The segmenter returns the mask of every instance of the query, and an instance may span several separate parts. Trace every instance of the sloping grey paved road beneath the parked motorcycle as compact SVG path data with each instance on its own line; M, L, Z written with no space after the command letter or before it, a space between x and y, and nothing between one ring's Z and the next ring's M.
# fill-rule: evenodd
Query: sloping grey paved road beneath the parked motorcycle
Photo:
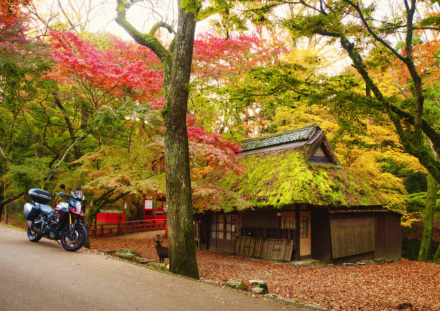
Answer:
M55 241L28 241L0 225L0 310L305 310L86 250L65 251ZM310 309L309 309L310 310Z

